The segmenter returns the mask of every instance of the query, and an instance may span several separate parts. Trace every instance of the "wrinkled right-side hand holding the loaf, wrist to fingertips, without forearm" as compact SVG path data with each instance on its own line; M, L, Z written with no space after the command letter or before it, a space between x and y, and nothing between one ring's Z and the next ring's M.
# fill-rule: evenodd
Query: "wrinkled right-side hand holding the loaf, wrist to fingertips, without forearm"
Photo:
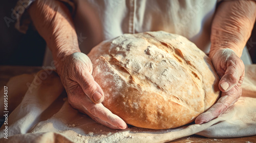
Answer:
M244 80L244 63L231 49L222 49L212 56L212 64L221 78L219 89L221 98L206 112L200 114L196 124L203 124L218 117L241 97Z

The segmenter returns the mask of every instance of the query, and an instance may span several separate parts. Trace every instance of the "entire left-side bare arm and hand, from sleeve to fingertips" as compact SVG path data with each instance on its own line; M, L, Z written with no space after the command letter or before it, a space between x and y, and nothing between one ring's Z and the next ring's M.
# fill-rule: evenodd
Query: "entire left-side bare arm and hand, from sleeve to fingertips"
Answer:
M91 60L80 53L69 9L58 1L35 1L29 14L57 61L55 66L69 103L104 126L125 129L126 123L101 104L104 93L92 77Z

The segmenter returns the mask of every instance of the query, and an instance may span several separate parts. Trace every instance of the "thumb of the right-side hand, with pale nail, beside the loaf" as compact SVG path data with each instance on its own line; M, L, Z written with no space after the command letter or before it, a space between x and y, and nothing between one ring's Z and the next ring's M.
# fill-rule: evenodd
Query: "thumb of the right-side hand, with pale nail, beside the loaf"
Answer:
M243 68L239 68L236 64L229 65L225 74L219 82L219 88L222 92L229 91L238 84L243 75Z

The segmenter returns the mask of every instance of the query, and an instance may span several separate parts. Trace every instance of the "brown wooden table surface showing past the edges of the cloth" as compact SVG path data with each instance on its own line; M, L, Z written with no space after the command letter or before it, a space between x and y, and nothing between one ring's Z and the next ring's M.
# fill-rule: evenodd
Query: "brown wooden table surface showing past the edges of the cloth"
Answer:
M8 82L9 78L22 74L33 74L39 71L41 67L38 66L3 66L0 65L0 87ZM256 143L256 135L247 137L236 137L236 138L207 138L199 135L191 135L182 137L170 142L175 143L188 143L188 142L245 142L245 143Z

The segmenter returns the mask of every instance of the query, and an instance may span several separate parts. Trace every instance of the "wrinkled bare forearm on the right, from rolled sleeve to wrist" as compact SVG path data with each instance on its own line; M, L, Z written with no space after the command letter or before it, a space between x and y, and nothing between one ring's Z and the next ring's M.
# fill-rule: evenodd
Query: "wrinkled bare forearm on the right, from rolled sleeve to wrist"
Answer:
M256 18L255 1L224 1L211 26L209 57L221 49L232 49L239 57L250 37Z

